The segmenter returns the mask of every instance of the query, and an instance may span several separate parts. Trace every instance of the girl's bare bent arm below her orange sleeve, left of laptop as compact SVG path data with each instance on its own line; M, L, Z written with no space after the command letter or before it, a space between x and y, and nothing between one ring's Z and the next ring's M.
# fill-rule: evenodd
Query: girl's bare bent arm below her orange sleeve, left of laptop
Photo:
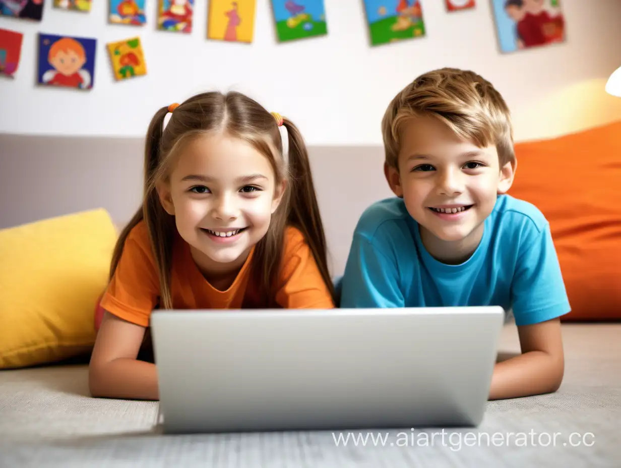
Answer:
M158 400L155 364L137 360L145 328L107 312L89 364L93 397Z

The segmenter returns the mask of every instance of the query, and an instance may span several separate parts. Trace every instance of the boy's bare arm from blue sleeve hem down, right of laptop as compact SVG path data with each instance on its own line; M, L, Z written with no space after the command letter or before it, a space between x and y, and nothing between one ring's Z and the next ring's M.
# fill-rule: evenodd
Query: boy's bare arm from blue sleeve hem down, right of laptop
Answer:
M490 400L556 392L563 381L564 355L558 318L518 326L522 354L494 367Z

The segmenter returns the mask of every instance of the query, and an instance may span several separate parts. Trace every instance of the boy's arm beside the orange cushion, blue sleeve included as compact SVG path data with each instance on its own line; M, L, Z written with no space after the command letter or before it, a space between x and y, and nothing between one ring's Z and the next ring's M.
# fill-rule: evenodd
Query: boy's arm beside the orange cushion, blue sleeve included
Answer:
M512 295L522 354L496 364L492 400L556 392L563 380L559 317L570 308L548 224L528 226L520 245Z

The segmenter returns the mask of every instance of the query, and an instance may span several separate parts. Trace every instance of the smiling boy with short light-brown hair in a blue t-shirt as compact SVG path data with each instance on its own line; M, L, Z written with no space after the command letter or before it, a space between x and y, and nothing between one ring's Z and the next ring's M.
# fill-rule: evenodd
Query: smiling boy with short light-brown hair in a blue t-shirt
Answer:
M397 197L358 221L340 306L512 309L522 354L496 364L489 398L555 392L569 301L543 214L505 195L516 160L502 96L471 71L431 71L392 100L382 131Z

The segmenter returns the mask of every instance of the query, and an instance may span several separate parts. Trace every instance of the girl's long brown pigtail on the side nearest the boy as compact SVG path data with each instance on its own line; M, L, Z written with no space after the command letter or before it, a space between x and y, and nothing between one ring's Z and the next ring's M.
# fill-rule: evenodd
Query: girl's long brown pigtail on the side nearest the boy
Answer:
M293 122L283 118L289 135L289 214L287 224L297 227L311 248L324 282L334 298L334 286L327 260L324 224L319 213L311 163L302 134Z

